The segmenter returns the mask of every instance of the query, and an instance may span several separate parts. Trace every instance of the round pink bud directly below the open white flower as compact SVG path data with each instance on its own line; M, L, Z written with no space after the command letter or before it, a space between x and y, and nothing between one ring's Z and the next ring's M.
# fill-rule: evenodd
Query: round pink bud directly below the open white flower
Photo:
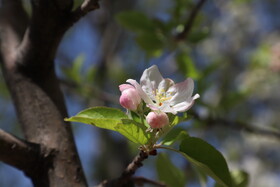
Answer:
M152 129L162 128L169 123L168 116L164 112L150 112L146 120Z

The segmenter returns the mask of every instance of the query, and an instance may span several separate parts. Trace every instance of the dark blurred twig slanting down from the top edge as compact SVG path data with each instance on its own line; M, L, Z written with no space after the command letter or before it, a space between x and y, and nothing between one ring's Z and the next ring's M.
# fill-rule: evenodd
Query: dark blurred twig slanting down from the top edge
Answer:
M177 41L184 40L188 37L188 34L190 33L191 28L194 24L194 20L205 2L206 0L199 0L199 2L196 4L184 26L184 30L175 36Z

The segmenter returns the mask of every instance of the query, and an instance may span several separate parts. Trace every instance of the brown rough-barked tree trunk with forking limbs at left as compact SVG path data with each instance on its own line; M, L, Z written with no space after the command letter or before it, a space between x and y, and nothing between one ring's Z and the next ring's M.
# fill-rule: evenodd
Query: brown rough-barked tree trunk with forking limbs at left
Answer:
M72 11L71 0L33 0L30 19L20 0L0 3L0 61L26 138L1 132L0 151L14 157L0 159L23 170L34 186L86 186L70 125L63 120L67 112L54 57L65 31L98 8L97 1L86 0ZM19 152L36 159L20 164L26 157L16 156Z

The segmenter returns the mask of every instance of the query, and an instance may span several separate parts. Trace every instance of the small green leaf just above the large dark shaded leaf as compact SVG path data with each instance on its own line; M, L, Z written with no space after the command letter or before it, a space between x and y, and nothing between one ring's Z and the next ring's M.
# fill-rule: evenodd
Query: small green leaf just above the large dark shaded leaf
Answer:
M188 133L183 128L174 128L172 129L162 140L163 145L172 145L178 140L183 140L188 137Z

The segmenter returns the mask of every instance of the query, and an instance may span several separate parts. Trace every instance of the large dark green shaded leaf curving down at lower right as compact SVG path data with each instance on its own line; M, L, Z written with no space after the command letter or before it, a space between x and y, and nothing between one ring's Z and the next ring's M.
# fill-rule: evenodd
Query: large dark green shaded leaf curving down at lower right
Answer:
M227 163L212 145L200 138L188 137L182 141L179 150L194 166L199 167L216 182L225 187L232 186Z

